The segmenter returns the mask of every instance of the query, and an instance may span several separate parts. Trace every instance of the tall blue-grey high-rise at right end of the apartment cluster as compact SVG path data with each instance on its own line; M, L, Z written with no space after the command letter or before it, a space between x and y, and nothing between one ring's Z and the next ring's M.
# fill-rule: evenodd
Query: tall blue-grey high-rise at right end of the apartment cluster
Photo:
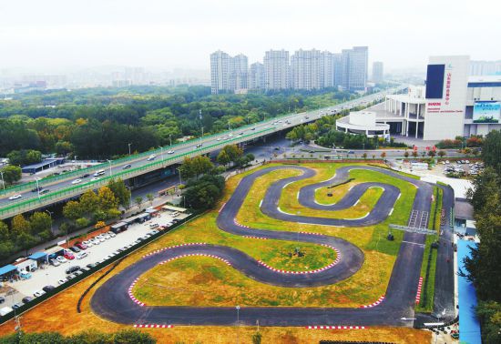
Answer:
M350 91L365 90L369 49L367 46L353 46L342 51L342 86Z

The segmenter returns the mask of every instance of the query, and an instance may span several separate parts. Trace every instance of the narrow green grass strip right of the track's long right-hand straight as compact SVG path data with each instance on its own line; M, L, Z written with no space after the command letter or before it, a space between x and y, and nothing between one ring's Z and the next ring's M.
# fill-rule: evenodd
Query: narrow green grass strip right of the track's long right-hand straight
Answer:
M442 198L443 191L440 187L434 187L435 200L432 202L430 208L430 221L428 228L434 228L434 214L435 217L435 229L437 234L440 233L440 213L442 212ZM423 278L423 289L421 294L421 300L416 306L415 310L420 312L431 312L434 307L434 297L435 297L435 269L436 269L436 248L431 248L433 242L435 242L437 236L427 236L426 243L424 246L424 257L423 263L421 265L421 277ZM431 256L431 257L430 257ZM427 271L429 269L429 271ZM428 277L426 278L426 273ZM426 279L427 282L426 282ZM425 296L424 296L425 295Z

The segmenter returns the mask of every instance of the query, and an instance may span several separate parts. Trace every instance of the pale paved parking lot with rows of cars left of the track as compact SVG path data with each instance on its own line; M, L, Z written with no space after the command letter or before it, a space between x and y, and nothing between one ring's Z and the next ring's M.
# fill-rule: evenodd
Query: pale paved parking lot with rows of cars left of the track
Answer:
M83 251L87 253L87 257L81 259L71 259L66 263L60 264L59 266L43 265L36 271L32 272L32 277L29 279L22 279L15 282L5 282L4 288L0 289L0 296L5 298L5 302L0 305L1 307L11 307L15 303L21 302L25 297L34 298L34 294L37 291L42 290L45 286L58 286L65 283L66 278L70 274L66 274L66 269L70 267L78 266L80 268L86 268L87 264L97 263L97 261L106 260L114 256L118 249L128 247L129 245L134 245L138 243L138 238L143 238L151 233L152 231L158 230L158 228L150 228L152 224L158 224L159 226L164 226L168 223L172 223L174 218L170 216L170 211L160 211L156 217L144 223L135 223L128 227L127 230L118 233L115 237L110 237L104 239L99 245L93 245ZM176 219L180 220L182 218L188 217L188 214L179 214ZM75 254L77 256L77 254Z

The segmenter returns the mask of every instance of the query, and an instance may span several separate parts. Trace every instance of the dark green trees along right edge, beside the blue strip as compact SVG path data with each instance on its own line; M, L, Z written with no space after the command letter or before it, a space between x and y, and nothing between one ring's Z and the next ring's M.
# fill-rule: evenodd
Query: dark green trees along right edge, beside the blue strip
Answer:
M465 259L467 277L480 299L476 309L486 343L501 342L501 131L484 138L484 172L474 179L468 198L474 207L475 227L480 238Z

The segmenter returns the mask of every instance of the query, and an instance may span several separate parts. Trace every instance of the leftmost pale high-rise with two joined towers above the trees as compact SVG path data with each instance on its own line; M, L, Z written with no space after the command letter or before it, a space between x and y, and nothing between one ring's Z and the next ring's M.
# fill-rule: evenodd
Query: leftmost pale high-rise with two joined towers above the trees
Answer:
M247 74L247 56L240 54L231 57L220 50L210 54L210 92L212 94L247 89Z

